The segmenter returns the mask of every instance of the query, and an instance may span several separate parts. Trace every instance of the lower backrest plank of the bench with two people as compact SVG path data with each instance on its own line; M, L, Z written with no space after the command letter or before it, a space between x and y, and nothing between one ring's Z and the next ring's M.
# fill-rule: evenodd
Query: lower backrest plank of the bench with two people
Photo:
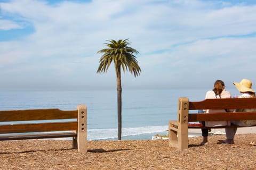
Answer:
M256 112L188 114L189 122L256 120Z

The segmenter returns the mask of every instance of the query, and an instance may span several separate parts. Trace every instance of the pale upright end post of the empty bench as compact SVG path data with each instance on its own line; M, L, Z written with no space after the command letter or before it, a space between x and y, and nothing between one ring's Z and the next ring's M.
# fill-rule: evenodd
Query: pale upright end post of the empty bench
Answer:
M78 130L77 130L77 149L78 152L87 152L87 107L78 105Z

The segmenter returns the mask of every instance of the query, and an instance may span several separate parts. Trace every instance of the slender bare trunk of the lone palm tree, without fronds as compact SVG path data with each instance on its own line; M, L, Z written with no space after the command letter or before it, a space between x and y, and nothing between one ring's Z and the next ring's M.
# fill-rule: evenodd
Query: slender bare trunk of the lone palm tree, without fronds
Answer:
M122 136L122 85L121 85L121 67L119 66L116 73L117 84L117 120L118 120L118 140Z

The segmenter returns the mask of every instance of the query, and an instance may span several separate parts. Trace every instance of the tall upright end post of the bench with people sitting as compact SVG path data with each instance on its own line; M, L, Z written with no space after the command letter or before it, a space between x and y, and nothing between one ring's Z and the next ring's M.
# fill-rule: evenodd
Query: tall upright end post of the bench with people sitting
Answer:
M189 100L186 97L178 101L178 148L188 149L188 111Z

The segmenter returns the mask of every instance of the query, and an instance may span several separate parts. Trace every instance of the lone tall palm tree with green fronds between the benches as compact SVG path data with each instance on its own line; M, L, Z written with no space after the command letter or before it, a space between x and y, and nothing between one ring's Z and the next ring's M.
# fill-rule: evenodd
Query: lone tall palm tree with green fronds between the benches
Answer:
M133 54L138 54L136 49L129 47L129 39L125 40L107 40L105 43L108 48L101 49L97 53L103 53L100 58L100 65L97 73L105 73L113 61L116 70L116 84L117 84L117 120L118 120L118 140L121 140L122 134L122 86L121 86L121 67L123 71L129 70L134 77L140 75L140 67L138 61Z

